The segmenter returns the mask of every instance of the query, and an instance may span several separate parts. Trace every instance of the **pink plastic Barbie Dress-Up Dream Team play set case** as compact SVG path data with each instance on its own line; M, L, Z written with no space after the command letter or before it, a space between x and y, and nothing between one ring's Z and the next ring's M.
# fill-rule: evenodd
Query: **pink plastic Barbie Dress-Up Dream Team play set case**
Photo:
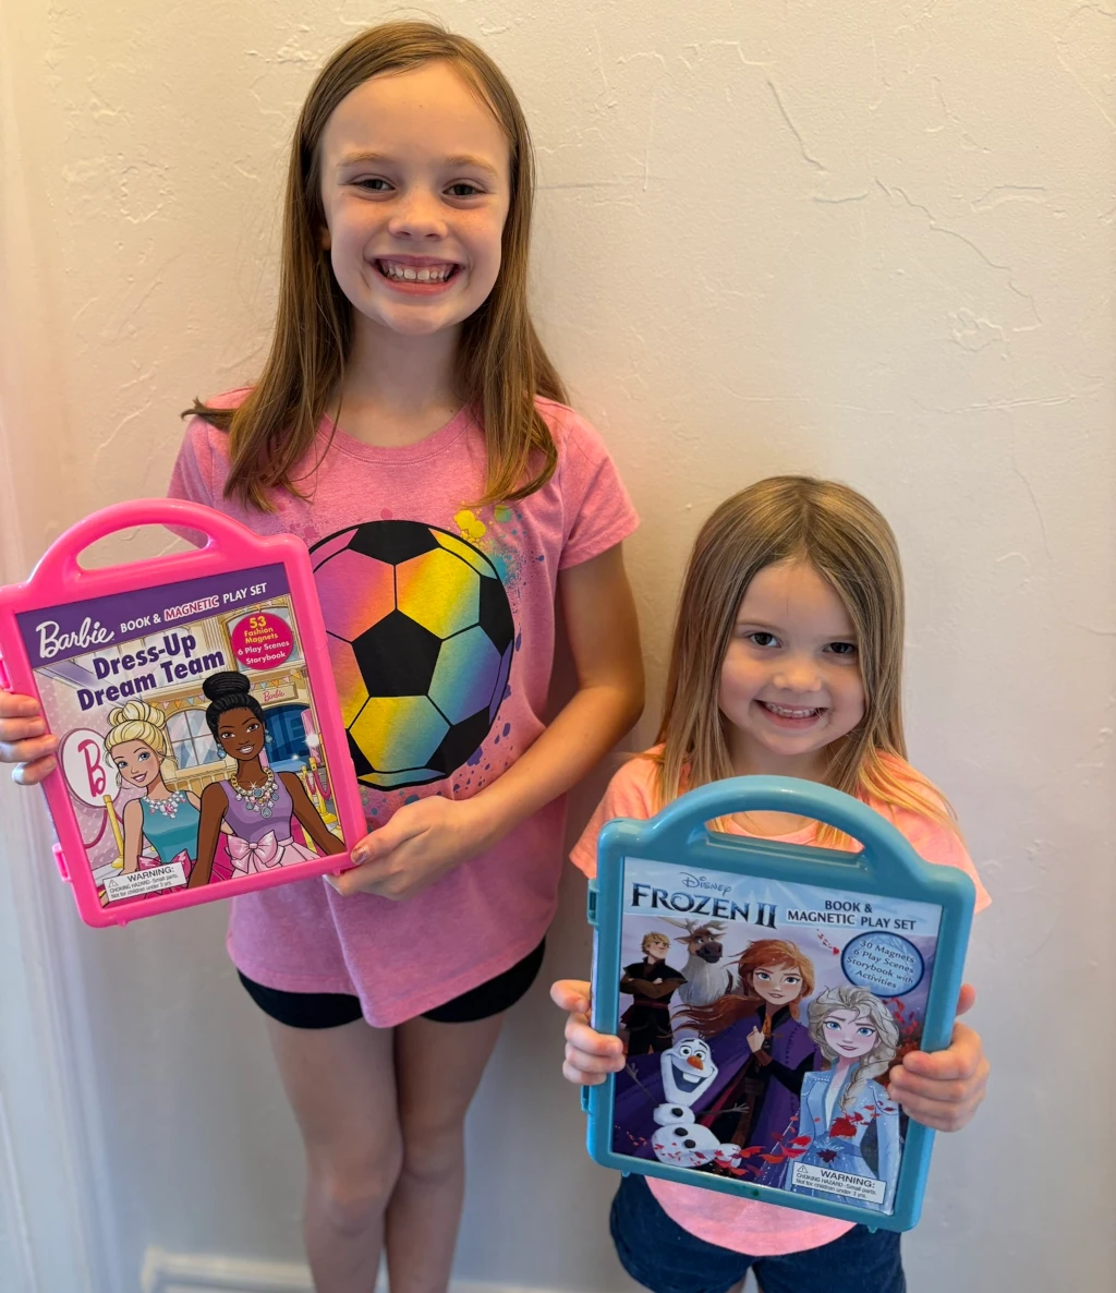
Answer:
M116 530L206 546L91 570ZM359 791L305 547L176 499L105 508L0 588L0 689L59 740L62 878L103 927L350 865ZM239 776L238 776L239 773Z

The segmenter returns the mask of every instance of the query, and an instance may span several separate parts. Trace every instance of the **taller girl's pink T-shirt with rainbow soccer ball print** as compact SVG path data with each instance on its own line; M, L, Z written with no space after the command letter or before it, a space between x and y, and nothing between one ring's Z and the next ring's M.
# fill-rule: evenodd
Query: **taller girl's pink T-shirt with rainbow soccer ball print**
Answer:
M220 402L233 406L246 393L234 392ZM381 775L372 765L366 781L379 785L362 785L370 829L414 798L440 794L468 799L531 745L544 727L557 574L614 547L638 524L596 432L561 405L539 400L538 407L557 446L555 475L521 502L477 512L469 509L468 500L484 493L484 436L464 410L425 440L389 449L365 445L323 420L309 458L310 468L319 458L317 469L300 481L308 498L277 493L274 512L222 498L228 436L200 419L186 429L171 480L175 498L215 507L259 534L299 535L310 548L359 525L365 528L362 551L372 555L388 544L396 553L393 560L409 556L409 546L416 552L432 547L425 528L433 526L453 535L444 546L447 542L466 555L472 551L469 560L489 575L481 581L481 612L495 625L500 645L488 661L476 653L491 653L490 643L463 643L464 663L441 675L447 681L440 700L446 712L456 706L463 715L473 714L477 706L471 688L478 684L469 679L493 674L494 718L485 719L486 732L473 725L462 732L456 749L463 740L475 753L442 775L438 762L447 763L450 740L433 754L429 740L422 747L420 723L407 709L410 702L402 702L400 721L375 734L380 754L372 755L381 769L396 771ZM316 578L326 627L344 628L341 636L350 639L352 622L365 613L357 588L358 564L349 570L343 569L344 562L323 562L340 547L340 539L323 543L312 561L321 564ZM343 553L345 559L349 555ZM493 572L498 579L491 578ZM453 597L428 574L428 566L415 565L409 575L409 612L416 610L418 619L445 639L454 631ZM429 643L413 625L403 628L410 636L392 631L388 650L409 665ZM338 657L335 666L345 709L347 694L352 697L358 684L348 658ZM499 679L504 678L499 700ZM392 749L398 742L411 742L414 749ZM400 768L410 771L400 773ZM272 988L356 994L365 1018L376 1027L413 1019L511 968L542 940L555 912L564 816L565 802L557 799L489 852L402 903L372 895L341 897L322 879L237 897L229 921L229 953L250 979Z

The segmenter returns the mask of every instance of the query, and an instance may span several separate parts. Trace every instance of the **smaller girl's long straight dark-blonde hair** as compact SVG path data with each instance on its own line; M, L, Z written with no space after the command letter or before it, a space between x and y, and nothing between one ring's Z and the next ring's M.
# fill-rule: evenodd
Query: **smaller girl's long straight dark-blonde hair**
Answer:
M943 795L905 764L903 569L895 535L856 490L810 476L772 476L733 494L694 542L657 737L661 803L733 775L718 707L722 665L747 586L781 561L813 566L841 597L856 632L864 718L829 746L826 785L956 830ZM820 826L816 838L828 847L846 843L833 826Z

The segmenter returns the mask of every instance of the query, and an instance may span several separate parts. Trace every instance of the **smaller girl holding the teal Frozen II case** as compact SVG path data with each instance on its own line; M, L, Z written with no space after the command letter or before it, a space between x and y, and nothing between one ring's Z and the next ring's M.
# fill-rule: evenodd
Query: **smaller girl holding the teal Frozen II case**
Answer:
M728 499L691 556L658 743L613 777L574 862L594 874L597 834L613 817L650 817L684 790L723 777L793 776L864 799L922 857L967 871L984 906L988 896L945 802L907 763L901 661L899 553L866 499L843 485L793 476ZM852 847L833 828L785 813L753 812L720 826ZM565 980L552 988L569 1011L564 1072L578 1084L604 1081L626 1063L618 1038L588 1027L588 987ZM958 1012L972 998L966 987ZM980 1038L957 1024L948 1050L907 1055L887 1081L912 1117L956 1130L980 1103L987 1073ZM625 1177L612 1232L626 1270L657 1293L723 1293L751 1267L767 1293L905 1287L892 1232L672 1181Z

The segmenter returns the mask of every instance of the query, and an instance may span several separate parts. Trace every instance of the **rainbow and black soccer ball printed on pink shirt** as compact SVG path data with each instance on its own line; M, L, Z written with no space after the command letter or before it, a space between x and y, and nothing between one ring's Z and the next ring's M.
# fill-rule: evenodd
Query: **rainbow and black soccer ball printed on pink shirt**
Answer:
M357 778L449 776L489 734L515 650L495 566L420 521L366 521L310 550Z

